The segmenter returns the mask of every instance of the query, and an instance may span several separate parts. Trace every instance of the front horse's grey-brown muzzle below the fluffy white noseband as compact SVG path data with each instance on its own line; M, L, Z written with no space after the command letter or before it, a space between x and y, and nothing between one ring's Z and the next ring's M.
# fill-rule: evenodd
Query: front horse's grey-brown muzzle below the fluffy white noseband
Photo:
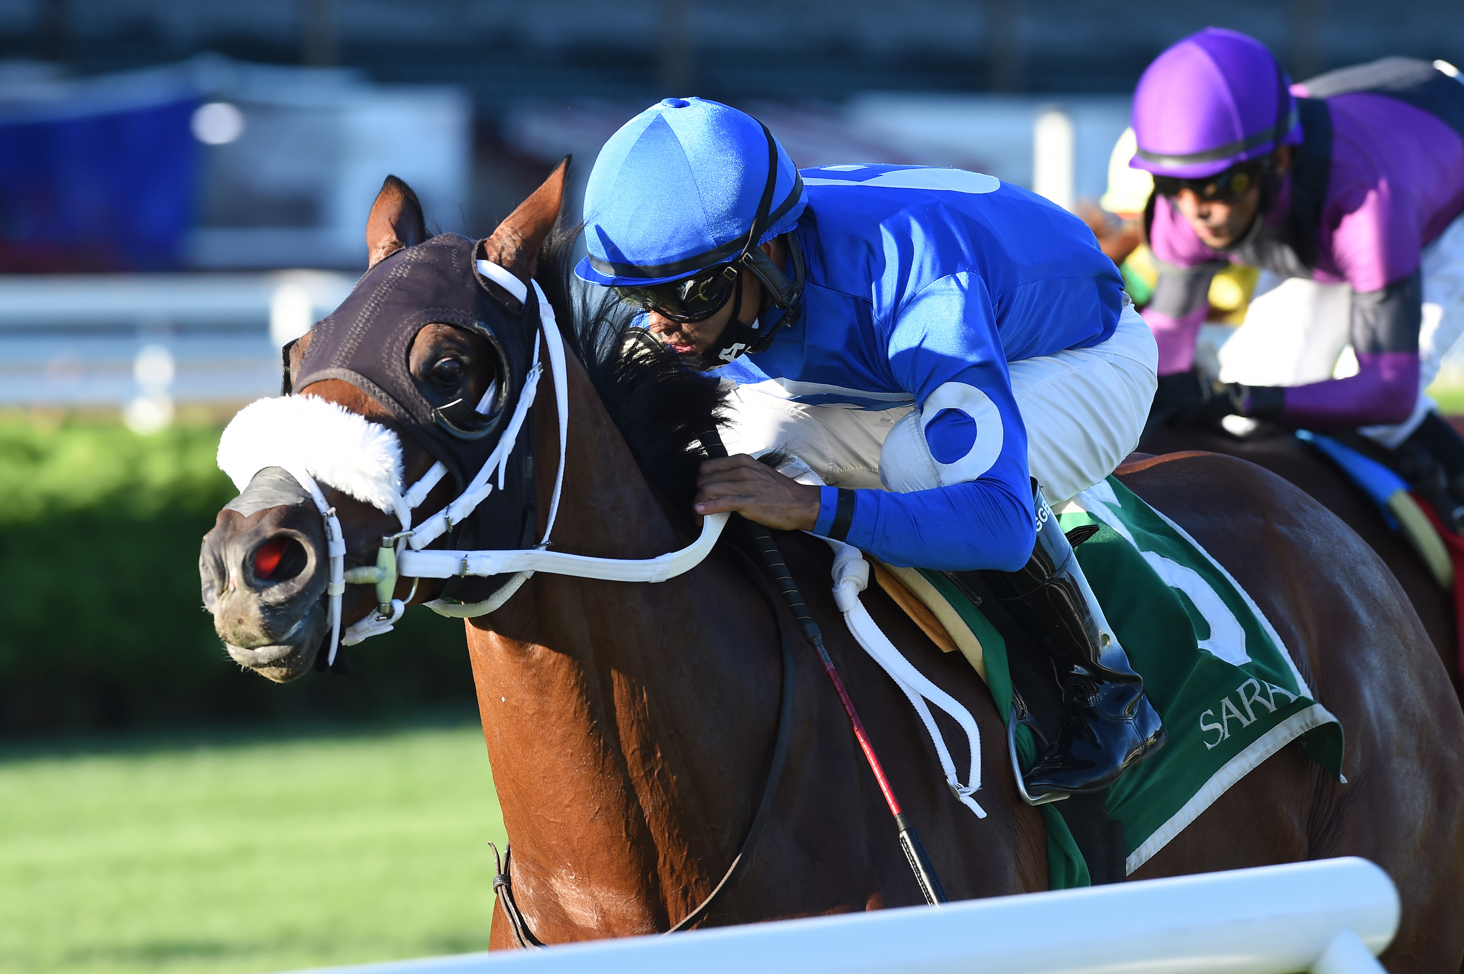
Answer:
M326 636L325 529L280 468L259 471L203 535L203 607L236 662L277 683L305 674Z

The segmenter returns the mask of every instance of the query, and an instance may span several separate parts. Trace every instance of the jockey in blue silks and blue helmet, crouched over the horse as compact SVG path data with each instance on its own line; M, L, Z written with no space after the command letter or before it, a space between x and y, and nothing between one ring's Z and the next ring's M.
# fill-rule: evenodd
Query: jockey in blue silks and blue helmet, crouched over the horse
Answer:
M668 98L600 151L584 235L577 273L735 386L742 453L703 464L697 513L979 572L1063 683L1032 801L1099 791L1162 741L1042 499L1113 472L1155 389L1154 338L1076 216L960 170L799 173L755 118ZM826 486L750 456L770 448Z

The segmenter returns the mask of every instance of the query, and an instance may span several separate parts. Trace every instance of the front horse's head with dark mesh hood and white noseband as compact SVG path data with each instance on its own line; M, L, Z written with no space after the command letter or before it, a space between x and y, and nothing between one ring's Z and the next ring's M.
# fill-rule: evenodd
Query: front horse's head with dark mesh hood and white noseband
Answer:
M285 395L243 409L220 443L240 494L205 535L199 572L237 662L283 683L321 667L332 632L367 616L400 614L403 601L486 598L502 579L398 581L407 540L392 537L445 515L486 467L496 496L471 515L439 516L432 545L536 540L531 281L567 164L482 241L429 238L416 195L386 178L366 224L370 269L285 347Z

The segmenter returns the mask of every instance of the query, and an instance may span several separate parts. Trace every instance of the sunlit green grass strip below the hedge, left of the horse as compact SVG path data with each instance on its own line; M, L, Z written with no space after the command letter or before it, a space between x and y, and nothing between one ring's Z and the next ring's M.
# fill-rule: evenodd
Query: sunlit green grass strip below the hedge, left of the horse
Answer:
M0 971L480 951L504 829L476 725L0 750Z

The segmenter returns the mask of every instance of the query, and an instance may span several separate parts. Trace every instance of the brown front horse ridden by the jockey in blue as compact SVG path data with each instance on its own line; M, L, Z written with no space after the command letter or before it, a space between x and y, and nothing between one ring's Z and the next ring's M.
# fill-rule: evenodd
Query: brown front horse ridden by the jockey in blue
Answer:
M564 170L476 254L536 273L553 225ZM375 259L425 241L410 192L388 181L367 222ZM436 241L436 243L433 243ZM417 250L425 253L425 250ZM539 273L567 323L569 439L556 550L644 559L684 547L698 525L688 499L700 448L695 430L719 405L714 386L669 352L632 351L613 316L569 300L564 250ZM401 260L401 257L398 257ZM400 265L398 265L400 266ZM468 281L471 287L471 281ZM486 287L486 285L483 285ZM492 290L504 312L489 325L531 329L520 303ZM583 298L581 298L583 300ZM602 309L603 312L603 309ZM423 389L468 366L488 388L492 348L470 329L411 325L397 347ZM439 319L438 319L439 320ZM359 335L382 347L379 333ZM294 369L302 348L291 354ZM401 415L341 379L300 389L404 431ZM476 401L476 399L468 399ZM559 456L553 396L533 407L537 522L552 502ZM406 477L433 464L403 436ZM441 459L441 458L439 458ZM1136 879L1364 856L1394 877L1403 926L1385 955L1394 971L1448 971L1464 955L1464 714L1394 576L1331 513L1266 471L1225 456L1162 458L1129 467L1124 483L1205 544L1255 597L1321 701L1347 730L1341 785L1297 746L1236 784L1151 858ZM205 603L236 660L277 680L305 673L319 652L325 534L307 499L256 483L220 513L203 541ZM397 521L332 486L348 565L372 562ZM452 494L451 478L422 515ZM495 496L496 497L496 496ZM490 499L492 500L492 499ZM495 507L514 525L523 510ZM420 515L419 515L420 516ZM849 636L832 600L830 553L814 538L777 534L827 648L884 756L906 815L919 828L953 899L1042 889L1042 820L1016 794L1003 721L959 654L943 654L880 591L865 605L902 652L976 717L988 818L957 803L930 739L902 692ZM272 547L271 547L272 545ZM264 570L262 550L285 554ZM502 579L493 581L493 585ZM406 597L406 582L398 597ZM423 579L416 601L439 585ZM477 595L480 598L480 595ZM372 611L369 586L351 586L346 620ZM533 576L507 604L470 619L483 733L504 823L512 839L512 891L529 929L546 943L666 930L685 917L738 856L769 775L783 693L780 638L792 641L793 720L788 765L750 861L704 924L875 910L921 902L895 829L839 701L786 611L769 600L725 538L695 569L662 584ZM956 744L963 766L963 744ZM512 946L502 902L492 945Z

